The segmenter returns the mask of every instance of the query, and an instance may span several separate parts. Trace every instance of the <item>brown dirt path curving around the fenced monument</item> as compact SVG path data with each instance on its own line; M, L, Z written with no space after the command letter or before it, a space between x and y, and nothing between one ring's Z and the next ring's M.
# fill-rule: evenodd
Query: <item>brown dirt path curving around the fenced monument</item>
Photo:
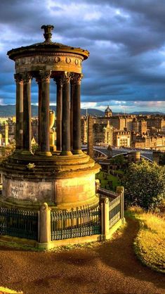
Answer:
M164 294L163 274L143 267L133 253L137 231L138 223L128 219L122 234L93 248L36 253L1 247L0 285L25 294Z

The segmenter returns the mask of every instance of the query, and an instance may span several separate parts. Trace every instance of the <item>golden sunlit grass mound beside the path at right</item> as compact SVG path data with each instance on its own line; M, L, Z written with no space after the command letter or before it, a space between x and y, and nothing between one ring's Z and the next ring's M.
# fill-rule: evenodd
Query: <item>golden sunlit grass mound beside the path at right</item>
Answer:
M165 219L135 207L130 210L140 221L140 230L134 242L136 254L148 267L165 273Z

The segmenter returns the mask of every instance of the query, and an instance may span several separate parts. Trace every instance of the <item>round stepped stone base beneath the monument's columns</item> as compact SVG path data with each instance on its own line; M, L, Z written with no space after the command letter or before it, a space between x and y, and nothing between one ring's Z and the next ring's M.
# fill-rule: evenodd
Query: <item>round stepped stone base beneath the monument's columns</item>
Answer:
M2 197L17 205L48 203L60 210L97 206L95 174L100 165L88 155L51 157L14 153L1 165Z

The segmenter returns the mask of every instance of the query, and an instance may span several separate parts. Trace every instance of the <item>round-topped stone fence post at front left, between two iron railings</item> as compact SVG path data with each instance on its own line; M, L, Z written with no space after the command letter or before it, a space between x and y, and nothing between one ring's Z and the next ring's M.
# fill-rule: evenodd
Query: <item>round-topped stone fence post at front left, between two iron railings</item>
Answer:
M40 207L39 211L39 247L47 248L51 242L51 208L47 203ZM41 244L42 243L42 244ZM43 244L44 243L44 244Z

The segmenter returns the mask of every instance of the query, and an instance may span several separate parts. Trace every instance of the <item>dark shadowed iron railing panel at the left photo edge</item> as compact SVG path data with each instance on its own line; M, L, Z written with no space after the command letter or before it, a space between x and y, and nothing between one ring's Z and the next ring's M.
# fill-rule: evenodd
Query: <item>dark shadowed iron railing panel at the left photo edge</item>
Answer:
M0 207L0 235L38 240L38 213Z

